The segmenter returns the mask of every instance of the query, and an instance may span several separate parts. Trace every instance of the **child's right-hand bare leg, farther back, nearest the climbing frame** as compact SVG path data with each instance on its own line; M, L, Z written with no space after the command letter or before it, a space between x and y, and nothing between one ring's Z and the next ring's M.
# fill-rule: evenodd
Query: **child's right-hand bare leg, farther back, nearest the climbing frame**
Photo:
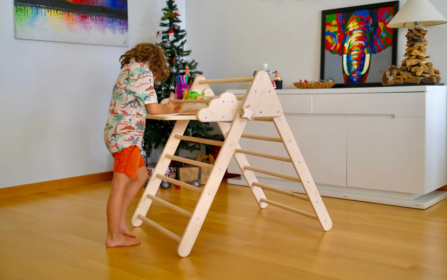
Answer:
M135 198L135 195L138 193L138 191L143 186L144 182L146 182L146 179L148 179L148 169L145 165L141 166L137 170L137 177L134 179L131 179L126 185L126 190L124 193L124 199L122 202L122 214L121 214L121 233L126 236L130 236L135 238L135 235L127 229L126 225L126 214L127 210L129 209L129 206L131 206L132 201Z

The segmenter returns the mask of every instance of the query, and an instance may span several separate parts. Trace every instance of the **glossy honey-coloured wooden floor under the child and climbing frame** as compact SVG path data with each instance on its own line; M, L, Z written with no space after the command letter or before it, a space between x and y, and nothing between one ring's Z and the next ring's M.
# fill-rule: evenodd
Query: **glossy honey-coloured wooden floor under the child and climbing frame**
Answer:
M143 223L136 247L106 248L110 182L0 200L0 279L447 279L447 200L426 210L323 198L331 231L223 183L189 257ZM141 193L140 193L141 194ZM138 202L135 198L128 218ZM192 211L198 194L160 189ZM312 211L308 202L268 199ZM177 235L187 218L153 204L148 218Z

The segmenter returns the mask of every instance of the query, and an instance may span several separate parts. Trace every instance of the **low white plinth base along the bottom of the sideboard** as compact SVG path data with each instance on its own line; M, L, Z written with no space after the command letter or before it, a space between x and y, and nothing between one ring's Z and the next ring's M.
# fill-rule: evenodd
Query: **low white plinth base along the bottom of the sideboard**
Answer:
M270 185L278 189L287 190L292 193L304 194L303 187L297 182L264 177L257 177L257 180L262 184ZM231 179L229 178L228 184L248 186L245 178L242 176ZM320 192L320 195L324 197L350 199L417 209L427 209L428 207L447 198L447 191L440 190L434 190L431 193L421 195L321 184L316 184L316 188Z

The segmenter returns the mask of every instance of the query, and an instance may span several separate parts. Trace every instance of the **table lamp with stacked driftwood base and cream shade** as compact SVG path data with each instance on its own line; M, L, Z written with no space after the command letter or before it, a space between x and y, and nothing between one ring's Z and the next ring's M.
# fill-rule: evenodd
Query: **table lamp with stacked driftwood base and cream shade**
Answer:
M424 26L447 23L446 18L428 0L408 0L388 23L391 28L408 28L405 59L392 84L437 83L439 70L427 58L427 30Z

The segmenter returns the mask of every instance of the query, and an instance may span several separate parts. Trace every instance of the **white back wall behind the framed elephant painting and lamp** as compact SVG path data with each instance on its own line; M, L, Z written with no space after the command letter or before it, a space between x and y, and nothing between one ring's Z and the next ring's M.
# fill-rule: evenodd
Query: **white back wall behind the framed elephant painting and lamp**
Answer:
M207 78L246 77L253 70L278 70L283 88L320 77L321 11L385 0L194 0L186 6L188 49ZM401 0L401 6L405 3ZM445 0L430 0L447 17ZM447 82L447 24L427 27L428 54ZM406 29L399 30L397 62L405 53ZM244 84L213 86L215 93Z

